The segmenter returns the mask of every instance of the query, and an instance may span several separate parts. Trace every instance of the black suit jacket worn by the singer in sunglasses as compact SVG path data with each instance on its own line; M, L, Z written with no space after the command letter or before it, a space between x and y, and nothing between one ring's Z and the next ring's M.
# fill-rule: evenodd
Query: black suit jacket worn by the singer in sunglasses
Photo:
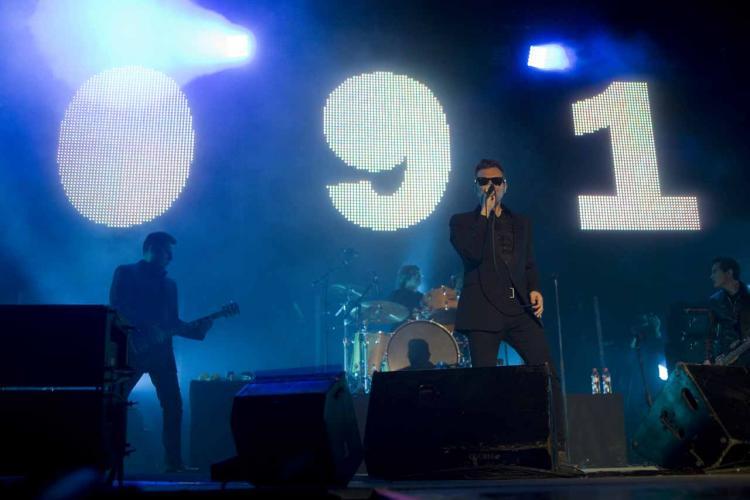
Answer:
M508 263L510 279L521 304L531 313L529 292L539 290L531 223L527 217L514 214L506 207L503 212L511 217L513 224L513 253ZM509 290L501 289L491 252L484 251L485 239L490 237L488 219L477 207L472 212L451 217L450 229L451 243L464 264L464 287L456 312L456 330L498 331L507 318L502 305ZM497 262L504 265L499 246L496 252Z

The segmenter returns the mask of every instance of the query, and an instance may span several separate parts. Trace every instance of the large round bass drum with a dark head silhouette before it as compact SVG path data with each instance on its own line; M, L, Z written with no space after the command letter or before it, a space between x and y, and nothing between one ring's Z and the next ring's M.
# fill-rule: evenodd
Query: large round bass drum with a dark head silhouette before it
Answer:
M430 369L458 365L458 345L453 335L434 321L410 321L398 327L388 341L390 371Z

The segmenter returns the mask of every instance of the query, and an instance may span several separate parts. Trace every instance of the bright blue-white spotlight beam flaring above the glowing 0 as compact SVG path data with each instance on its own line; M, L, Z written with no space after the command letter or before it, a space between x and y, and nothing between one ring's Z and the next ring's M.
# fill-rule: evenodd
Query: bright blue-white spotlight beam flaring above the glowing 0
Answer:
M55 75L75 88L124 66L184 84L255 54L249 30L190 0L39 0L29 25Z

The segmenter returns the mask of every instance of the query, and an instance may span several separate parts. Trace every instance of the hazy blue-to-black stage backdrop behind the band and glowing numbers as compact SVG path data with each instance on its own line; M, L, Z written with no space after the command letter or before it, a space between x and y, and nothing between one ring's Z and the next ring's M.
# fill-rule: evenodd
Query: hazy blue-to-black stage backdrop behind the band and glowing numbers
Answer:
M399 266L415 263L425 288L446 283L460 271L448 219L473 207L474 164L496 158L510 179L506 203L534 221L555 359L552 275L559 274L569 391L588 391L600 364L598 296L615 390L640 401L628 347L635 316L663 317L671 303L705 299L716 255L750 265L748 47L733 7L198 3L251 29L257 55L183 87L196 131L188 184L167 213L129 229L97 225L68 202L55 157L75 89L56 80L35 49L23 23L34 3L0 8L0 302L106 302L115 266L140 257L147 233L166 230L178 240L170 274L183 317L230 299L242 307L202 344L177 341L183 383L203 372L319 363L325 353L316 348L311 282L350 247L359 257L333 282L366 284L375 272L387 293ZM575 71L526 67L529 44L550 40L578 49ZM326 97L372 71L428 86L451 130L443 200L427 220L394 233L349 223L325 189L353 176L325 142ZM701 231L579 229L577 196L613 193L614 182L608 132L576 137L571 104L615 80L648 82L662 192L697 196ZM398 172L379 175L376 183L398 184L387 177ZM338 335L328 339L328 361L340 358Z

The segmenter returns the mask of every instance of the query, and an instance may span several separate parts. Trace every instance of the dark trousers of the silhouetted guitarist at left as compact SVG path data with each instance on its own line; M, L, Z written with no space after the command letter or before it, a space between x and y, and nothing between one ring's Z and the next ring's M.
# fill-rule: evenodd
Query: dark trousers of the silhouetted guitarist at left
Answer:
M126 387L128 395L144 373L151 377L162 409L164 463L168 468L179 467L182 465L182 395L177 371L171 367L136 371Z

